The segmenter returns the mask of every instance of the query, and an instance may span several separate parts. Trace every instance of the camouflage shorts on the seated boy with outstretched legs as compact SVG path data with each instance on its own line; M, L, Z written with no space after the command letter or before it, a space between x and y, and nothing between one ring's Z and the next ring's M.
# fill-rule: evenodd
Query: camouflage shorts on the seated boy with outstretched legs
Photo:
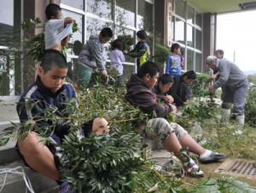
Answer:
M164 118L150 119L146 126L143 125L139 128L143 139L150 141L160 140L161 143L164 143L172 132L176 134L179 141L181 141L188 133L179 124L175 122L167 122Z

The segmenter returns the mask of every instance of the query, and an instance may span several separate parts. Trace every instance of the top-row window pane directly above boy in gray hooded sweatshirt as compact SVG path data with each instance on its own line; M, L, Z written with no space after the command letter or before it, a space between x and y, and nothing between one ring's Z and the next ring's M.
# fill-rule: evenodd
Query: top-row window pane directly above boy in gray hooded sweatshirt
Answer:
M112 1L111 0L87 0L87 11L97 14L101 18L112 18Z

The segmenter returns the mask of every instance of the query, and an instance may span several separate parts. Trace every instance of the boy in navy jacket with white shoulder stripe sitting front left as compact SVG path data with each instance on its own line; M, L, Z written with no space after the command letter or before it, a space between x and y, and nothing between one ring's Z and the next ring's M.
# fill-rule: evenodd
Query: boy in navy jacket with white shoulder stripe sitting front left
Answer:
M69 117L66 108L68 101L77 99L73 86L65 82L67 77L67 60L57 50L49 50L44 54L38 68L38 77L26 91L21 94L17 105L20 122L33 120L35 122L31 132L20 133L16 150L26 166L32 167L60 184L61 192L71 192L67 182L61 182L61 141L69 132L67 124ZM55 111L58 121L45 115L45 109ZM76 107L74 107L76 109ZM84 128L84 132L108 132L108 122L96 117ZM44 133L47 128L46 133ZM38 134L49 135L49 144L44 144ZM20 138L26 138L20 142Z

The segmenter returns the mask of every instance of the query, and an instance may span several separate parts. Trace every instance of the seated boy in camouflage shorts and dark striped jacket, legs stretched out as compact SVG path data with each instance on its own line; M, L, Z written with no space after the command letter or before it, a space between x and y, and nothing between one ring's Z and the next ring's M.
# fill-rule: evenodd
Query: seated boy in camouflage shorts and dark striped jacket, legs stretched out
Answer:
M192 177L202 177L203 172L200 167L183 151L182 147L189 147L189 151L199 155L202 163L217 162L224 158L224 155L206 150L191 138L189 133L175 122L167 122L162 118L172 112L173 105L158 104L156 95L153 92L154 84L159 77L159 67L151 61L145 62L138 70L137 74L132 74L126 84L127 92L125 99L131 105L139 106L145 113L155 112L157 118L152 118L145 126L139 129L146 140L160 140L163 147L175 154L181 162L185 172ZM146 128L152 128L150 132Z

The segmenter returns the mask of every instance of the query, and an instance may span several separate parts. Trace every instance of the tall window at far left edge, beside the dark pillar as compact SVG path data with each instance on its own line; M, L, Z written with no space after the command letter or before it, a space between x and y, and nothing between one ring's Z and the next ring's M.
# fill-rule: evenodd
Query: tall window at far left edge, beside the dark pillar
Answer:
M0 95L20 90L20 1L2 0L0 6Z

